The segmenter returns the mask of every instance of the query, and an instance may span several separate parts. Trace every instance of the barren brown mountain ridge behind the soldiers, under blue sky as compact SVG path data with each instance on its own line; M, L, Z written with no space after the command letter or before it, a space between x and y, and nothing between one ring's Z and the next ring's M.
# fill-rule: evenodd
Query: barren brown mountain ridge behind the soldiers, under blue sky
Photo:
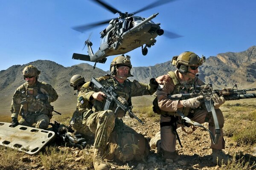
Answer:
M131 59L132 62L132 59ZM12 95L17 87L24 83L22 70L26 65L35 65L41 74L39 81L52 85L57 91L59 98L52 104L55 108L63 111L71 111L76 108L75 91L70 87L70 78L75 74L81 74L86 81L91 77L101 77L108 74L99 68L93 70L93 66L80 63L70 67L64 67L50 60L36 60L24 65L13 65L6 70L0 71L0 113L10 113ZM159 63L148 67L133 67L131 74L140 82L148 83L152 77L175 71L171 61ZM199 68L199 78L215 87L233 87L237 84L241 88L255 88L256 86L256 46L252 46L241 52L220 53L216 57L211 56Z

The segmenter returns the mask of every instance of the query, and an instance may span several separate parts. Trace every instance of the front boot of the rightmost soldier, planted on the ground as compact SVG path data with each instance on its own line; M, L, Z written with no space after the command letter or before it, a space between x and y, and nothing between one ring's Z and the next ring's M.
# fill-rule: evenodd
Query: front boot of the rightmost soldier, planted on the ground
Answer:
M222 152L222 150L212 148L212 163L214 164L228 164L232 159L229 155Z

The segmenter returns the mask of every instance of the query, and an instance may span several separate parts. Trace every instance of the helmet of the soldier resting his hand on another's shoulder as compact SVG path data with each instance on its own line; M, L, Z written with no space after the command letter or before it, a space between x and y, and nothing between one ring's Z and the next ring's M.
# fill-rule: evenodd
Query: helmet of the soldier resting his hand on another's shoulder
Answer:
M125 65L128 66L130 68L129 70L129 74L128 77L132 77L133 75L131 75L131 61L130 61L130 56L126 55L126 57L124 55L115 57L111 64L110 64L110 71L111 71L111 75L116 75L116 68L120 65Z

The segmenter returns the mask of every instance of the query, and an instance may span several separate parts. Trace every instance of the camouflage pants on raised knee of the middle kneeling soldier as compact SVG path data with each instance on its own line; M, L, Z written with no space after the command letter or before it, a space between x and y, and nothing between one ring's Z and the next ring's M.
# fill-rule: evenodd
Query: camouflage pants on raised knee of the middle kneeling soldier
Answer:
M90 115L90 116L89 116ZM104 149L115 126L115 114L111 110L83 115L83 124L95 133L95 148Z

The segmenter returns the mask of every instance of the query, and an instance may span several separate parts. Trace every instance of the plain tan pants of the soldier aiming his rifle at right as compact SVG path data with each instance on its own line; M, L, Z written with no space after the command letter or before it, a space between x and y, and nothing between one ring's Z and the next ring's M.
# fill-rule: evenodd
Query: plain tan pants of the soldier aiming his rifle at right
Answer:
M215 148L218 150L225 148L225 141L223 138L223 126L224 126L224 117L220 109L215 109L218 123L221 131L221 136L219 138L218 144L211 143L210 148ZM160 123L161 122L170 122L171 121L170 116L160 116ZM212 131L213 135L215 135L215 127L214 127L214 121L212 118L212 113L208 113L205 109L197 109L191 118L191 120L198 122L200 124L204 122L209 122L209 130ZM181 124L177 124L177 128L180 127ZM168 151L168 152L175 152L176 150L176 135L172 132L171 126L163 126L160 128L160 133L158 132L156 136L154 136L150 141L150 146L152 148L157 147L157 141L161 140L161 150Z

